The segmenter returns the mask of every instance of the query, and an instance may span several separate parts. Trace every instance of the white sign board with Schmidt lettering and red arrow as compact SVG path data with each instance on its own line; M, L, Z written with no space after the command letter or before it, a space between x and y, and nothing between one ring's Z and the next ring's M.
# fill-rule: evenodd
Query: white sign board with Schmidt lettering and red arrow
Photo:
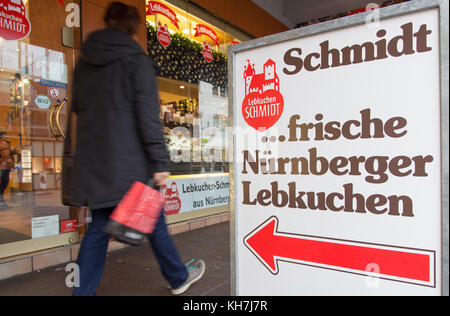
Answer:
M439 295L439 10L237 50L236 294Z

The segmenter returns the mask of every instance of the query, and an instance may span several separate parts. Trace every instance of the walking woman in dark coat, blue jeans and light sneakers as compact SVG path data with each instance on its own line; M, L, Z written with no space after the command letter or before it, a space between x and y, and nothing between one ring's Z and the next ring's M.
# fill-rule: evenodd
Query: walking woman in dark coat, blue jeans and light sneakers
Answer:
M92 210L78 255L80 287L75 296L95 295L110 238L103 228L128 189L135 181L152 178L162 186L169 177L153 62L133 39L141 23L139 12L113 2L105 23L105 29L83 44L73 80L76 149L70 181L64 185L69 185L71 205ZM182 294L203 276L205 263L198 260L185 267L161 213L150 243L172 293Z

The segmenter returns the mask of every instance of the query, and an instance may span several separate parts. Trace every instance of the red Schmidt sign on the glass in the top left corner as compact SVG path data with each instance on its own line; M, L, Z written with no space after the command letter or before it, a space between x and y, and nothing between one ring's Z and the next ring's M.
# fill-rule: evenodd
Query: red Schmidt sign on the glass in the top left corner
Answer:
M20 40L31 30L26 7L21 0L0 0L0 37Z

